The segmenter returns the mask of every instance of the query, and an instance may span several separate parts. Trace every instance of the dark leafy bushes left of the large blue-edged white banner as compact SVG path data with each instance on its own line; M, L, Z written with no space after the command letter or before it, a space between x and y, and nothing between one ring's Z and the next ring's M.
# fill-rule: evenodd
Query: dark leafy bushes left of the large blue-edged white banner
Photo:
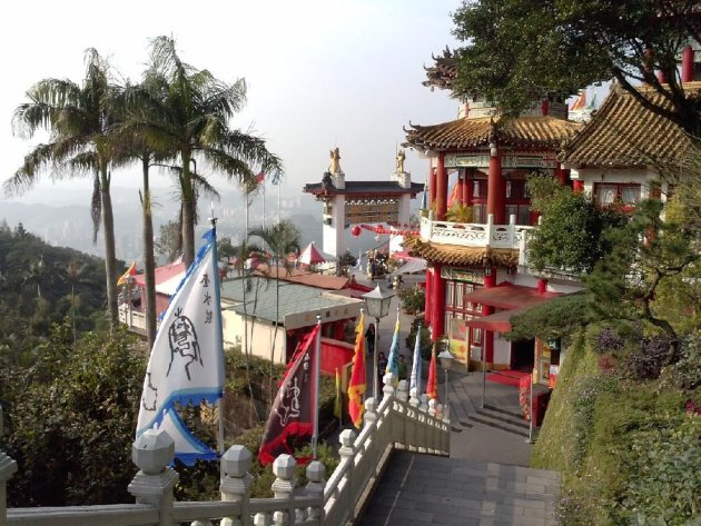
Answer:
M28 366L0 368L6 436L17 460L11 506L131 502L131 443L146 359L131 338L55 325Z

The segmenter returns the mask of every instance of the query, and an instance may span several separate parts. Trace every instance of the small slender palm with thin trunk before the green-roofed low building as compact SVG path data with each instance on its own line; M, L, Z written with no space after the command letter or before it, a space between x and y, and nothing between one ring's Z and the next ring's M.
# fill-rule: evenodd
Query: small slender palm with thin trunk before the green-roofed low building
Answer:
M289 220L283 220L275 224L270 228L261 228L253 230L251 237L260 238L268 247L269 260L275 262L275 319L279 319L280 309L280 264L285 268L285 272L292 272L292 265L287 259L290 252L299 250L302 235L299 229ZM269 268L269 267L268 267ZM273 343L270 344L270 371L268 376L268 398L273 404L273 364L275 363L275 344L277 343L278 324L275 324L273 331Z

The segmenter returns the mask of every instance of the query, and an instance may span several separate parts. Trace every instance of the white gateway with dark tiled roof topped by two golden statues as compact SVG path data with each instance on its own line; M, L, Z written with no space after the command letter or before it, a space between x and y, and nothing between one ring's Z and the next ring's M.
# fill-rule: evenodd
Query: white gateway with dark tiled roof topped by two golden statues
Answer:
M330 163L322 182L305 185L303 191L322 202L323 250L338 257L346 251L344 232L352 225L387 224L401 228L409 222L409 200L424 185L412 182L404 169L404 151L397 152L396 169L388 181L346 181L338 148L330 151Z

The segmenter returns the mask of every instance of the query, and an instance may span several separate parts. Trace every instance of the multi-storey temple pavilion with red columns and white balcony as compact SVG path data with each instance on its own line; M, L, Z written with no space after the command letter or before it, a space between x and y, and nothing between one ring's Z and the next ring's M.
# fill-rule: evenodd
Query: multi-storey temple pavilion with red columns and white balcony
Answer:
M424 85L450 89L455 58L446 51L434 61ZM539 380L549 383L550 366L557 364L551 349L533 340L510 343L501 335L516 311L579 289L576 282L527 274L525 241L537 222L526 176L539 171L571 185L556 155L581 127L567 120L566 103L556 98L505 118L484 99L466 97L456 120L405 129L405 146L431 159L428 210L419 236L405 245L430 264L426 324L434 341L448 338L457 360L535 369ZM451 175L456 175L453 207L463 209L460 221L448 220Z

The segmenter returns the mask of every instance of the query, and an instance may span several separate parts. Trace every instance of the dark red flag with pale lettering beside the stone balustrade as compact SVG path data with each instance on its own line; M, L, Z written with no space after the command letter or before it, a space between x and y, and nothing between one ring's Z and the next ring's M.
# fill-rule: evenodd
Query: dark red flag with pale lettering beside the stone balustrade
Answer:
M288 437L312 436L314 429L314 343L319 333L317 325L297 346L285 370L268 421L265 426L258 460L264 466L278 455L294 455Z

